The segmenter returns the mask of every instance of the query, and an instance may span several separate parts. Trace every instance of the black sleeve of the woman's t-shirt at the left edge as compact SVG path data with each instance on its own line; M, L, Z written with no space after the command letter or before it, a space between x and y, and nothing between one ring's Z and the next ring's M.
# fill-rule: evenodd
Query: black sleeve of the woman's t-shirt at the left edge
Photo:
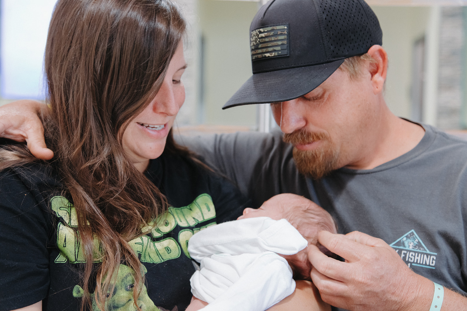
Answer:
M41 301L49 287L47 214L17 175L0 172L2 310Z

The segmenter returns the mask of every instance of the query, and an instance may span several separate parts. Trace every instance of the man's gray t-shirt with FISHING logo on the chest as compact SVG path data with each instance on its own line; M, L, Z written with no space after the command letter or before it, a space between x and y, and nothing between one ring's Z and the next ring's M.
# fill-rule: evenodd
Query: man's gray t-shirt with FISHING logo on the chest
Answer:
M324 207L340 233L391 245L417 274L467 293L467 141L424 125L410 152L371 170L340 168L312 180L297 172L279 132L181 139L258 206L279 193Z

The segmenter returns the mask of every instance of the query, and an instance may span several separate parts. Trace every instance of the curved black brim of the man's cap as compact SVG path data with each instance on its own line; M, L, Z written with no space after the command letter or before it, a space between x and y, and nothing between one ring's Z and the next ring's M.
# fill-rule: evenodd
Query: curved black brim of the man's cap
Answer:
M323 83L344 62L256 73L233 94L222 109L248 104L285 102L303 96Z

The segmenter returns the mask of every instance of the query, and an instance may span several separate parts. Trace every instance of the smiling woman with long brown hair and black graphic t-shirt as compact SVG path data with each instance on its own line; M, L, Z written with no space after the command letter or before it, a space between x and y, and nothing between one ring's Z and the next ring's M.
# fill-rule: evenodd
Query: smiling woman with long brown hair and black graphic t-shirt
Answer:
M54 158L11 143L0 154L2 309L190 303L188 239L245 200L173 141L184 30L170 0L57 2L45 53Z

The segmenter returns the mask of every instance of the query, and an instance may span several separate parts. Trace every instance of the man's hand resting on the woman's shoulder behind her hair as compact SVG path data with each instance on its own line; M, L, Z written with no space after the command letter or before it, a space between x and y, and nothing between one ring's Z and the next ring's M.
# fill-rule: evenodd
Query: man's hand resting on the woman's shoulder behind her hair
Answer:
M0 137L26 141L29 151L39 159L54 156L44 140L44 128L38 117L47 113L47 106L33 100L18 100L0 107Z

